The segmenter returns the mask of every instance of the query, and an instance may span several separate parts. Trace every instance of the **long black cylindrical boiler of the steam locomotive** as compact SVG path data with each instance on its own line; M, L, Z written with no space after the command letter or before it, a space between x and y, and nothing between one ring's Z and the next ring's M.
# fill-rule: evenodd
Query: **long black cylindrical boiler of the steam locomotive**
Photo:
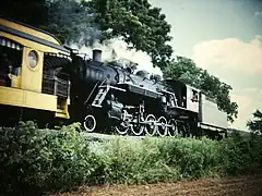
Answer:
M92 60L84 61L80 57L72 58L72 79L78 81L82 86L93 86L97 82L103 83L105 81L108 85L119 86L134 94L152 98L160 98L158 91L166 89L162 82L141 76L143 72L138 75L130 74L128 70L120 66Z

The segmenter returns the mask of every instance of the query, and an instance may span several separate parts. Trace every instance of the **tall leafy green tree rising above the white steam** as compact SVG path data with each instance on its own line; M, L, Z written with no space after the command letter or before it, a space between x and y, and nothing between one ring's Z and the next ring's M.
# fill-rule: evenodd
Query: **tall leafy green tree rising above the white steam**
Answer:
M130 48L147 52L154 65L164 69L171 57L170 25L152 8L147 0L91 0L82 1L93 9L102 30L102 41L121 37Z

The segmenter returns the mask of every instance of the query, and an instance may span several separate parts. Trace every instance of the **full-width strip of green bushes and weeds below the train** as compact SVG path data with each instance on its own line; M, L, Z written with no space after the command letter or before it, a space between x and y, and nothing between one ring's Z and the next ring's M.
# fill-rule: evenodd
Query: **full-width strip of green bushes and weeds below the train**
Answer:
M118 137L95 142L79 124L59 131L32 122L0 130L0 189L34 194L83 184L152 183L206 175L240 174L262 166L262 138L231 133L207 138Z

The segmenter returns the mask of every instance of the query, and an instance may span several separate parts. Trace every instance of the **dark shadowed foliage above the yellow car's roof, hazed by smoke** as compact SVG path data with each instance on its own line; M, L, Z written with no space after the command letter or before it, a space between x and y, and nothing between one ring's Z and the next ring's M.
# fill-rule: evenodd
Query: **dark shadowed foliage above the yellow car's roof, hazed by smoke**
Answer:
M23 9L21 9L23 8ZM94 14L75 0L7 1L0 13L53 34L62 44L93 45L99 39Z

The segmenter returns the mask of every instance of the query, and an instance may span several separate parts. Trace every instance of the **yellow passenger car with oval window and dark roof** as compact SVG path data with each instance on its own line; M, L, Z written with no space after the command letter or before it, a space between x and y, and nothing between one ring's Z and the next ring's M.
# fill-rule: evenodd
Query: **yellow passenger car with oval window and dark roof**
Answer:
M1 123L69 119L70 82L60 70L70 61L70 51L52 35L0 17Z

